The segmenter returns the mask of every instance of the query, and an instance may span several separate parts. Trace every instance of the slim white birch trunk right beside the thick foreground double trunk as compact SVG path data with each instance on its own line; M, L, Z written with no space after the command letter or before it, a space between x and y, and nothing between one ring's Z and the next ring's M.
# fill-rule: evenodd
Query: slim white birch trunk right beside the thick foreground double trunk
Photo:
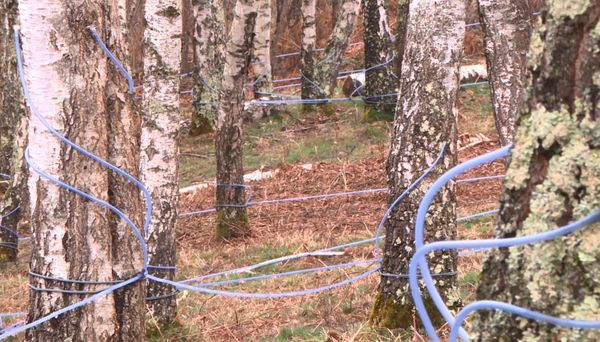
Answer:
M144 46L144 95L141 139L142 182L153 203L148 232L150 265L175 266L177 220L177 155L179 139L179 65L182 16L177 0L146 0ZM150 268L173 280L174 269ZM153 318L170 324L176 315L175 289L150 282L147 296Z

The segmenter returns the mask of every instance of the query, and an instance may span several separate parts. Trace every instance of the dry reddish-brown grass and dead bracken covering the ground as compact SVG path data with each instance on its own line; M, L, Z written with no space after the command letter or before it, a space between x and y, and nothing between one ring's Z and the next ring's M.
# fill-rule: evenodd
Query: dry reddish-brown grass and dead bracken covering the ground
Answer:
M484 132L495 140L486 90L461 91L461 133ZM468 118L468 119L467 119ZM301 128L301 127L295 127ZM319 127L315 129L321 129ZM327 131L328 132L328 131ZM325 134L325 131L324 131ZM495 149L482 143L461 151L465 160ZM325 192L385 187L386 144L373 146L372 156L361 160L340 158L313 163L312 170L284 165L275 178L254 182L255 199L314 195ZM493 163L464 177L503 172ZM459 216L492 209L497 205L500 182L458 187ZM213 189L184 196L181 211L210 208ZM321 249L374 235L386 206L384 194L289 203L249 209L253 234L244 239L218 243L211 239L214 217L180 220L178 226L178 277L187 278L245 266L263 260ZM488 237L493 218L459 225L459 238ZM373 257L372 246L349 249L339 256L321 256L267 267L256 272L280 272ZM3 265L0 277L0 312L25 311L27 305L27 253L21 262ZM481 256L460 259L459 283L464 301L472 299ZM359 274L365 267L267 280L223 289L245 292L282 292L331 284ZM373 330L365 322L378 284L372 275L348 286L319 295L277 300L248 300L183 292L178 297L183 327L156 332L151 340L164 341L421 341L418 329L404 332Z

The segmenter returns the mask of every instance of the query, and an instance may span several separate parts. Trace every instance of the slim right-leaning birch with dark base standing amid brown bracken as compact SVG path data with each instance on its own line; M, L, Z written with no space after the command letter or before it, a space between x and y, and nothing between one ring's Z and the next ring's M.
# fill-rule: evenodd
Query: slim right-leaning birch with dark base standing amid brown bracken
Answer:
M250 66L256 9L253 0L238 0L234 9L219 96L217 131L217 239L250 233L245 208L242 165L244 83Z

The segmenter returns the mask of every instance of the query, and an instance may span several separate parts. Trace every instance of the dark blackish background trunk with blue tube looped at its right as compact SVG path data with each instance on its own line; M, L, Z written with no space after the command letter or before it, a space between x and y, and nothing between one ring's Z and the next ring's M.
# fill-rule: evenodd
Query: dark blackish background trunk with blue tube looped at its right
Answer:
M387 18L385 0L362 0L365 42L365 91L368 96L394 93L398 81L394 78L394 46ZM388 64L385 64L388 63ZM384 65L382 65L384 64ZM366 99L366 105L381 113L393 113L393 97Z

